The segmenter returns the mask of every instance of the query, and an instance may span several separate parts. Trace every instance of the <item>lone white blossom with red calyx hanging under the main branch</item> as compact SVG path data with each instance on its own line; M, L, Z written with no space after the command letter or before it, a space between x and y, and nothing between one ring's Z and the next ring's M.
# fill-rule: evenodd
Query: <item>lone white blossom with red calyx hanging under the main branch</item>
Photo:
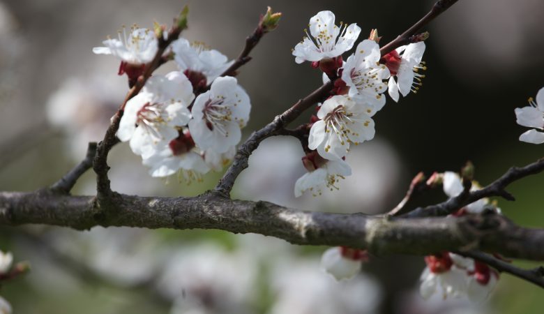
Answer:
M321 257L321 266L337 281L354 278L361 271L361 264L368 260L365 251L345 246L328 248Z

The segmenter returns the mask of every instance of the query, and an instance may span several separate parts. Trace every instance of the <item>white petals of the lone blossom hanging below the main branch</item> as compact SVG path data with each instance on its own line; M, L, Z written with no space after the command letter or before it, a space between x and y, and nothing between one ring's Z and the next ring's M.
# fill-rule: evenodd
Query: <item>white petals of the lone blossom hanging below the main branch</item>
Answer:
M321 267L337 281L354 278L361 271L361 261L342 256L341 248L328 248L321 258Z

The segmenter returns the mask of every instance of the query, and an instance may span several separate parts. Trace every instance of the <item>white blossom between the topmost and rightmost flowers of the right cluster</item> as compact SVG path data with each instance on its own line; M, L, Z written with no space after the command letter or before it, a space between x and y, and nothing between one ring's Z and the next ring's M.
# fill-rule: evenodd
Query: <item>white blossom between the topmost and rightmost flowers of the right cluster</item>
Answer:
M367 103L381 110L387 89L384 83L389 70L378 61L381 57L379 45L374 40L365 39L357 45L356 51L346 61L342 70L342 81L349 87L349 96L357 102Z

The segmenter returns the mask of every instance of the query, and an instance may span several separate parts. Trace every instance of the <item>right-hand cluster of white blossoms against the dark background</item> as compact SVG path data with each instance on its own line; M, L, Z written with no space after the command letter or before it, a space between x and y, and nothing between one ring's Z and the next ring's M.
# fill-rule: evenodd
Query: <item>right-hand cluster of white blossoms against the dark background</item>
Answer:
M310 19L309 33L292 54L296 63L310 61L323 71L323 80L333 80L333 95L319 104L317 117L312 117L308 147L303 165L307 174L296 181L294 193L300 196L310 190L320 195L324 188L338 189L336 184L352 172L345 162L352 145L372 140L375 136L374 115L381 110L386 97L397 102L399 92L407 96L421 85L418 70L425 69L421 59L425 43L410 43L381 55L377 31L361 41L344 62L342 54L351 50L361 33L354 24L335 24L331 11L322 11Z

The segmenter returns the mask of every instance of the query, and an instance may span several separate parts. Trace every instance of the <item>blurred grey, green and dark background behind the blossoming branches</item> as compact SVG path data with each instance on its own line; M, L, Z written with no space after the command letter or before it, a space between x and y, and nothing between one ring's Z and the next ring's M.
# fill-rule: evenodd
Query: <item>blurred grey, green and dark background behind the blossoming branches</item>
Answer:
M239 82L253 110L245 137L321 84L291 48L308 20L333 10L337 22L356 22L365 38L379 29L382 43L422 17L432 1L144 1L0 0L0 190L48 186L83 158L86 142L103 137L121 103L126 77L119 61L94 55L123 24L169 24L190 6L188 40L236 57L266 6L282 12ZM264 141L234 188L234 196L300 209L376 214L403 197L417 172L457 171L467 161L488 184L511 165L543 156L544 147L519 142L515 107L543 87L544 3L539 0L461 0L427 28L423 87L375 116L377 135L348 162L354 174L339 191L294 199L304 172L296 140ZM164 66L161 73L174 69ZM308 115L299 122L307 121ZM220 173L189 186L153 179L128 145L110 154L112 187L138 195L197 195ZM87 173L74 193L92 194ZM499 200L516 223L544 227L543 178L509 189ZM444 200L428 195L418 204ZM416 204L417 205L417 204ZM319 269L324 248L292 246L256 234L216 230L137 230L0 227L0 250L29 260L31 273L1 287L15 313L542 313L542 291L501 276L490 301L423 301L423 258L373 256L352 281L335 283ZM516 262L523 267L534 264Z

